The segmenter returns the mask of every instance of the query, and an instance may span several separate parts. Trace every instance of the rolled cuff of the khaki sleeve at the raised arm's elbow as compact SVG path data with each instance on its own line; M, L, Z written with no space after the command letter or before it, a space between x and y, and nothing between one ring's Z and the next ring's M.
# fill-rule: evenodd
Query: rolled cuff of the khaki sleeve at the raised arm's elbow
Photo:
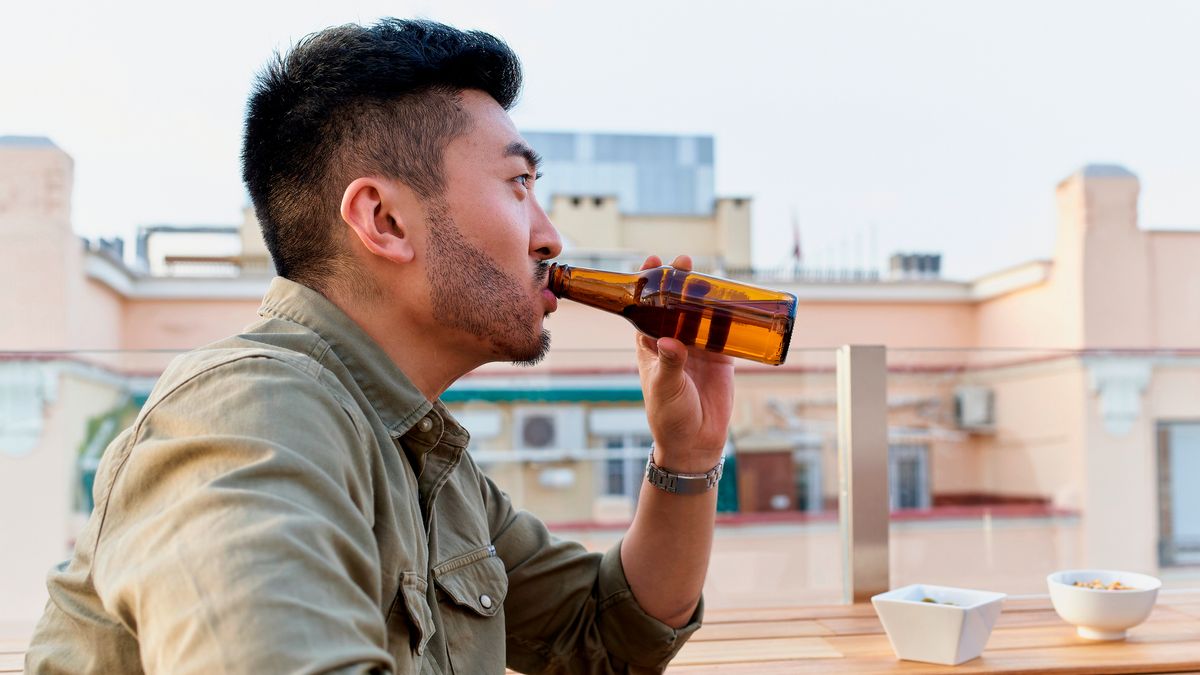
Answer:
M704 616L704 598L683 628L672 628L637 604L620 563L620 544L600 561L600 631L610 652L631 665L661 671L695 633Z

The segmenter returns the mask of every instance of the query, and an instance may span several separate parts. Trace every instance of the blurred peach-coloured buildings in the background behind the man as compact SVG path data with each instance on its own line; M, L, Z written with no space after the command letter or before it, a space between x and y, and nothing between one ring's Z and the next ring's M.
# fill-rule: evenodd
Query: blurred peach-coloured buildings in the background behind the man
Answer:
M722 508L830 509L832 348L875 344L889 350L896 509L1025 504L1078 515L1055 536L1080 565L1200 561L1187 482L1200 471L1200 232L1139 228L1128 171L1087 166L1057 186L1052 259L953 281L936 253L898 253L881 277L754 269L751 202L714 195L710 138L526 136L545 155L538 193L569 262L632 269L650 252L691 253L799 298L788 363L738 365ZM0 577L41 579L62 557L89 471L172 351L253 322L270 279L250 209L230 226L142 228L126 262L124 243L72 232L71 186L53 143L0 138L0 508L38 513L4 520L0 540L30 552L0 561ZM487 365L444 400L517 504L620 522L650 442L631 328L571 303L548 327L544 364Z

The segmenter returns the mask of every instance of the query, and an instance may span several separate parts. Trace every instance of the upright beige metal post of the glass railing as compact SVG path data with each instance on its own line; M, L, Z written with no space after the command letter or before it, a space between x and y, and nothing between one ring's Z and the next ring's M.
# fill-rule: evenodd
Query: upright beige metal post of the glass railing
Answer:
M887 350L838 350L838 508L842 599L888 590Z

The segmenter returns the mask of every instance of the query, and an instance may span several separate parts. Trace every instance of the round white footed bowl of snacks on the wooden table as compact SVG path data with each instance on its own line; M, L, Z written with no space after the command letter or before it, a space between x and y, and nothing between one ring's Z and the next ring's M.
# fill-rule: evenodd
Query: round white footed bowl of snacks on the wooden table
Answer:
M1073 586L1099 579L1103 584L1121 581L1132 591L1102 591ZM1163 585L1148 574L1118 569L1063 569L1046 577L1050 602L1063 621L1075 627L1080 638L1121 640L1126 631L1141 623L1154 609L1158 589Z

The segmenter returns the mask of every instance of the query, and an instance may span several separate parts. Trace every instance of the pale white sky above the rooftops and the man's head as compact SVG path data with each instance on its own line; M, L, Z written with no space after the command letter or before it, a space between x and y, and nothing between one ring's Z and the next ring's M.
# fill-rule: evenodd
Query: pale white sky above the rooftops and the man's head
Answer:
M253 73L384 14L505 38L520 129L714 136L758 265L785 261L793 213L809 263L941 251L965 279L1049 257L1054 187L1088 162L1139 174L1142 227L1200 227L1184 0L5 2L0 135L74 157L80 234L233 225Z

